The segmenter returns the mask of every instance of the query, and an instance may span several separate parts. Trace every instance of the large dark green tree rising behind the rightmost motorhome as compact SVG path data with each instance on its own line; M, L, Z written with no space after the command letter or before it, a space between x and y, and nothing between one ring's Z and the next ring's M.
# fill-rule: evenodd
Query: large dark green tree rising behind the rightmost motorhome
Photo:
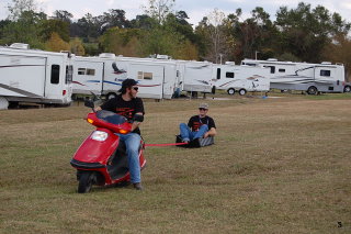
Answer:
M322 49L333 35L350 31L350 24L342 21L339 14L330 14L321 5L312 10L310 4L304 2L292 10L281 7L275 24L282 38L281 53L292 53L309 63L321 60Z

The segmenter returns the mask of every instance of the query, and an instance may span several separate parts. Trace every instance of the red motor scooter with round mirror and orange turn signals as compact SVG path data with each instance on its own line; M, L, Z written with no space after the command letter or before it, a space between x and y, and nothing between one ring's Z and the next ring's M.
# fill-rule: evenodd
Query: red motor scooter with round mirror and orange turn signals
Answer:
M94 108L92 101L87 100L86 107ZM91 190L92 185L127 185L129 182L128 158L125 145L120 143L118 134L131 132L132 123L127 119L111 111L89 113L87 121L97 126L76 152L70 164L77 168L78 192ZM140 142L139 163L143 169L144 142Z

